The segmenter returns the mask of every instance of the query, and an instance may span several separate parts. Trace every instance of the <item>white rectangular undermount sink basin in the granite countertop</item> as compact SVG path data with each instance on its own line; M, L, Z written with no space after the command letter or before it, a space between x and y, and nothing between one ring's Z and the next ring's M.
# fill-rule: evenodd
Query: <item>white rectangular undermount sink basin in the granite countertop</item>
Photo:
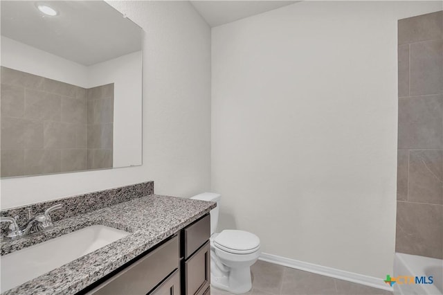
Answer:
M0 291L17 287L126 235L126 231L93 225L1 256Z

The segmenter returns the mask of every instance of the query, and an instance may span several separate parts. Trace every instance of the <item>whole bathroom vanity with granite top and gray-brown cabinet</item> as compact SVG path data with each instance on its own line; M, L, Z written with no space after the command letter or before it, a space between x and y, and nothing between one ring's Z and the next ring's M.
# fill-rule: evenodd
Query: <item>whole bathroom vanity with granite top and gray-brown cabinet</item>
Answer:
M127 232L123 238L51 271L24 278L10 289L2 287L2 294L209 294L209 211L216 204L154 195L153 184L150 185L138 184L2 211L2 216L21 216L28 209L37 212L57 202L64 203L63 209L52 216L53 229L1 242L2 258L93 226ZM95 199L100 202L94 202ZM89 212L81 213L84 211ZM81 244L71 242L71 249L60 247L51 250L51 255L67 255L81 248ZM3 269L3 264L1 267L3 283L11 269ZM21 273L9 275L20 277Z

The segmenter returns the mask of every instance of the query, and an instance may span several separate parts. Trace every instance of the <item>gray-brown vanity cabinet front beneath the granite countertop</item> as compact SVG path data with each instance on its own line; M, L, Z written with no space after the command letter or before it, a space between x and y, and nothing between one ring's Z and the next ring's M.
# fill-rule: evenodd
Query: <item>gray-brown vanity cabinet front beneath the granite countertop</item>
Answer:
M79 294L209 295L209 238L208 214Z

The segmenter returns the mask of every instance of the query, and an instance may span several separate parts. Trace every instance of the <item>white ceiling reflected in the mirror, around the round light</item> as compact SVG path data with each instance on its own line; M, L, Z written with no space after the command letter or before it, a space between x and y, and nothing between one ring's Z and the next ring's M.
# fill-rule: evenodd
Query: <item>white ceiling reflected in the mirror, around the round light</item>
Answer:
M142 34L105 1L1 1L1 35L85 66L140 51Z

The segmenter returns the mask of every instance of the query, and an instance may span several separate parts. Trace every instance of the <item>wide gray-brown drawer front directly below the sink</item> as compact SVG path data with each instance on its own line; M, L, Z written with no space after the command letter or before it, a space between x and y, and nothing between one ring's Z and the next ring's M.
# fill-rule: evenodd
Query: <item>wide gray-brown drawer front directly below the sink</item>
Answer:
M147 294L175 269L179 268L179 237L165 242L87 294ZM160 294L160 293L159 293ZM177 293L179 294L179 293Z

